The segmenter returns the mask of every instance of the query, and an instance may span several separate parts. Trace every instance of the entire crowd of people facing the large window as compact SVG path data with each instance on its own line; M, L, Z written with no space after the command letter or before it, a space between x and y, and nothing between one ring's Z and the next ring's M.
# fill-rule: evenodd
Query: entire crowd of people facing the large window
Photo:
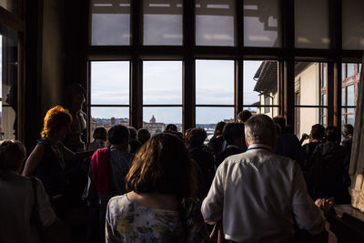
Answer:
M88 163L84 242L325 240L334 201L350 203L348 124L313 125L299 140L283 116L244 110L217 123L207 144L199 127L182 134L171 124L151 137L116 125L97 127L75 153L62 144L72 119L50 109L27 158L19 141L1 143L0 242L72 241L65 160Z

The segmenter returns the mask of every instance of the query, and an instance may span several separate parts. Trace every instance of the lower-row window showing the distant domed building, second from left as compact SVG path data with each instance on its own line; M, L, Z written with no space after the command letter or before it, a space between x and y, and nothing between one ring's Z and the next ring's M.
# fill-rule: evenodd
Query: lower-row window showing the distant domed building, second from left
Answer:
M168 124L182 130L182 62L143 62L143 127L153 135Z

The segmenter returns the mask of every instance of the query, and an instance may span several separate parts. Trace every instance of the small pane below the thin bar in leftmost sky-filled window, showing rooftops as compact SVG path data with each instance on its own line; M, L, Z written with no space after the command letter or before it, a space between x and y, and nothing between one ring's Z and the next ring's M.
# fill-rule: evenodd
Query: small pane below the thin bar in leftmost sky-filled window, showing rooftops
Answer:
M129 107L91 107L91 138L96 127L129 126Z

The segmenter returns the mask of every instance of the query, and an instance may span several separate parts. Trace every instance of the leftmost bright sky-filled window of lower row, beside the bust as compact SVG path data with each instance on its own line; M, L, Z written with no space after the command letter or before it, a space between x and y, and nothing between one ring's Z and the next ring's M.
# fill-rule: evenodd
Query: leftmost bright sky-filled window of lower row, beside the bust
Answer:
M129 126L129 62L93 61L91 67L91 137L96 127Z

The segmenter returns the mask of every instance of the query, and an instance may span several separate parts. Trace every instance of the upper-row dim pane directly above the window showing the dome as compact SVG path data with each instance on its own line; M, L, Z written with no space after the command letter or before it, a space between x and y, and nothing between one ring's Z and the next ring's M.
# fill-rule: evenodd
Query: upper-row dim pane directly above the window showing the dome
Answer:
M182 0L144 0L144 45L182 45Z

